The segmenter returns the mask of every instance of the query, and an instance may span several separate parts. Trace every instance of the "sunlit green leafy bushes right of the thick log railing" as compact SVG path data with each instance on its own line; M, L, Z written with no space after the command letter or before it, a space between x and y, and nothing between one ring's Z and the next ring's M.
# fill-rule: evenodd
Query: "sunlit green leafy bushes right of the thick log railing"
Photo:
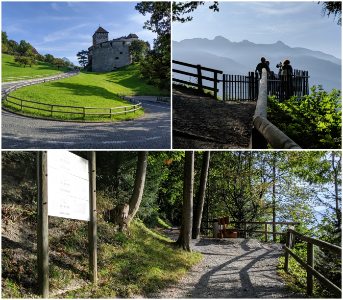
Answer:
M321 86L311 91L300 102L296 96L283 103L268 97L268 119L302 148L341 149L341 91L327 93Z

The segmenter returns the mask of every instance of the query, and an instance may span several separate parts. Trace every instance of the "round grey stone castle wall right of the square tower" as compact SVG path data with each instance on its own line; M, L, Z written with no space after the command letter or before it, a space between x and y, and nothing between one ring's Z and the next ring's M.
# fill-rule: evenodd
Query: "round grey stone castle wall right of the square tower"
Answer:
M132 61L129 46L130 43L123 41L110 41L93 46L93 72L109 72L129 65Z

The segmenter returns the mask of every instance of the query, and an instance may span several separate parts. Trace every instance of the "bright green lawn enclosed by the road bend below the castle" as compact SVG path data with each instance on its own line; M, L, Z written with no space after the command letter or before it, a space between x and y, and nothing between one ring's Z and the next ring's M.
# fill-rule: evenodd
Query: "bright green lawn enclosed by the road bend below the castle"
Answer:
M45 84L25 87L11 95L25 100L37 101L49 104L82 106L82 107L120 107L132 105L117 96L117 92L156 92L157 88L146 84L145 79L138 78L138 65L129 65L122 67L114 72L97 73L82 71L79 75L67 79L52 81ZM10 99L10 98L9 98ZM11 101L20 103L19 100ZM39 111L34 109L23 108L11 103L6 104L2 99L2 105L13 111L22 112L26 115L51 117L50 112ZM24 104L25 105L25 104ZM50 106L41 104L27 103L26 105L48 109ZM132 108L130 108L132 109ZM70 112L83 112L82 109L75 108L54 108L54 110L63 110ZM124 109L116 110L124 111ZM108 113L109 110L86 110L88 113ZM114 111L112 111L114 112ZM83 115L54 113L53 118L64 120L92 120L92 121L109 121L125 118L132 118L142 115L144 110L138 110L136 113L131 112L127 115Z

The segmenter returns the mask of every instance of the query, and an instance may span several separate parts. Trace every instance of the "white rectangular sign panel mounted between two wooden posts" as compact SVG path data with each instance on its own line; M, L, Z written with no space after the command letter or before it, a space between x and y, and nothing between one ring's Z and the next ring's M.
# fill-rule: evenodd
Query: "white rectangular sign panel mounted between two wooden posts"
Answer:
M64 150L49 150L48 215L89 221L88 161Z

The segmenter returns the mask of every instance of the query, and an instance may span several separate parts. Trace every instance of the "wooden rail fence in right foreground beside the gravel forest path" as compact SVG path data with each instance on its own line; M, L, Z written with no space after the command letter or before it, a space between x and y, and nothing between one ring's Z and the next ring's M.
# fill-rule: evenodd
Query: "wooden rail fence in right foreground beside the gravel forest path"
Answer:
M292 236L296 236L297 238L307 242L307 262L303 261L299 256L297 256L291 249L290 244L292 240ZM336 245L332 245L330 243L321 241L319 239L306 236L301 234L298 231L294 230L294 227L290 227L287 230L287 240L286 240L286 246L283 246L282 248L285 250L285 270L288 270L289 266L289 259L290 255L306 270L307 272L307 295L312 295L314 290L314 277L318 279L318 281L323 284L325 287L327 287L330 292L332 292L335 296L337 296L339 299L342 299L342 290L333 284L330 280L322 276L319 272L317 272L313 266L314 266L314 245L324 248L332 253L335 253L339 256L342 256L342 248Z

